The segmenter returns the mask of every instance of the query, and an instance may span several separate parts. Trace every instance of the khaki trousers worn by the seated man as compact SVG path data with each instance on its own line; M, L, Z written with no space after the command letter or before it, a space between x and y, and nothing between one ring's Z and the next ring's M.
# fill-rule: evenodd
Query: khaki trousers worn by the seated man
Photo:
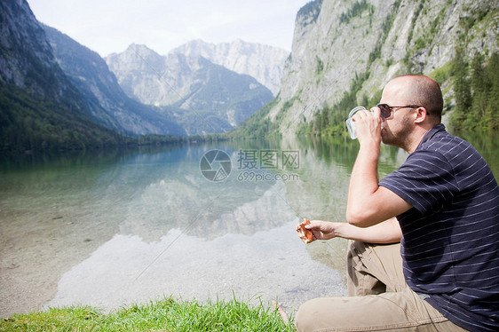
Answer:
M408 288L399 243L349 245L348 296L302 304L298 331L465 331Z

